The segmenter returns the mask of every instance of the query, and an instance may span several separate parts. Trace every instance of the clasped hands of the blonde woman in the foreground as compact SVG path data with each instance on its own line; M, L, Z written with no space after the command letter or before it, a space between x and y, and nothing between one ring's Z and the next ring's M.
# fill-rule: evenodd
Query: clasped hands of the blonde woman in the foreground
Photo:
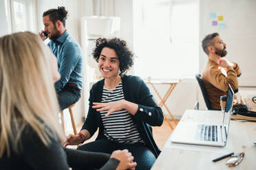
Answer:
M125 170L125 169L131 169L134 170L137 163L134 162L134 156L131 156L131 152L129 152L127 149L124 150L116 150L113 151L110 158L115 158L119 160L118 167L116 167L117 170Z

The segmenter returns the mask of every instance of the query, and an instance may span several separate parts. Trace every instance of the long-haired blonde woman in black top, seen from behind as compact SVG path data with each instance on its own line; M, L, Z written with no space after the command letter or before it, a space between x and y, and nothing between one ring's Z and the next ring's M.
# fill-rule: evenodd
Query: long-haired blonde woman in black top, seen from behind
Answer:
M59 77L56 58L39 36L0 38L0 169L134 169L127 150L110 156L63 149L54 90Z

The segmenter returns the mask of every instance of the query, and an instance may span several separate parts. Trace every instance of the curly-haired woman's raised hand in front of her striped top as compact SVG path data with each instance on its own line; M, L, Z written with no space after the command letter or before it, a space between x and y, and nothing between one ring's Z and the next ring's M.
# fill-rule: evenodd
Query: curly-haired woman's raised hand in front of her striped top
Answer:
M105 114L105 117L109 116L112 112L120 111L125 109L125 100L119 100L119 101L113 101L109 103L92 103L94 106L92 108L96 108L97 112L108 110L107 114Z

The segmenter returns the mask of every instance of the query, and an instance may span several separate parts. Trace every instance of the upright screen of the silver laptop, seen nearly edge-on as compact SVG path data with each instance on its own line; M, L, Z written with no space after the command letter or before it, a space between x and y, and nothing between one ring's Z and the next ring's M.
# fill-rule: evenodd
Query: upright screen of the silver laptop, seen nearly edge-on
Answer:
M231 120L233 99L234 99L234 92L233 92L230 84L228 84L228 93L226 94L226 106L225 106L225 113L224 113L224 118L223 118L223 125L225 127L226 136L228 134L229 122Z

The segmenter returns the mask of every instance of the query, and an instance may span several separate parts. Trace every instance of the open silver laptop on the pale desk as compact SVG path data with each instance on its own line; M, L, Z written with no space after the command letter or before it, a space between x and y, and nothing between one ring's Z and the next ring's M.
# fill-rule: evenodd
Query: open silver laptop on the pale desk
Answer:
M228 84L225 113L220 123L202 124L202 122L180 121L171 136L171 142L224 147L228 137L233 99L234 92Z

